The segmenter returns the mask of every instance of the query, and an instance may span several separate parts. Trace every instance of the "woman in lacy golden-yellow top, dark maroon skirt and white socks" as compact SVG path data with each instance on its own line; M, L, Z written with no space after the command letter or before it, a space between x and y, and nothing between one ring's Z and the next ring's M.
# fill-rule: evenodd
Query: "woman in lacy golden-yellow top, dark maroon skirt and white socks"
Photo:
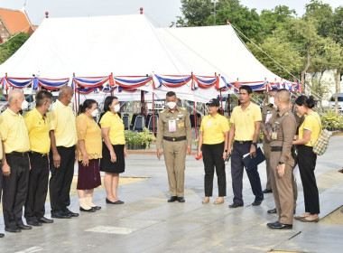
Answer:
M79 149L78 194L79 211L96 211L93 204L94 188L101 185L99 158L102 157L101 129L93 117L97 117L97 101L87 99L79 106L76 119Z

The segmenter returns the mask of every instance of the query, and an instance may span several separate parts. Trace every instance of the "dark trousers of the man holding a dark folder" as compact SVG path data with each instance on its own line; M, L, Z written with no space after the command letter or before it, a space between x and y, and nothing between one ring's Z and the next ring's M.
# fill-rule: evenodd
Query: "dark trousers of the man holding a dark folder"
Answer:
M232 178L232 189L234 192L234 203L244 204L243 201L243 155L250 153L251 142L244 144L234 143L234 147L231 155L231 178ZM255 201L263 201L264 193L262 192L261 179L257 171L257 167L253 170L246 170L247 177L251 185L251 189L255 195Z

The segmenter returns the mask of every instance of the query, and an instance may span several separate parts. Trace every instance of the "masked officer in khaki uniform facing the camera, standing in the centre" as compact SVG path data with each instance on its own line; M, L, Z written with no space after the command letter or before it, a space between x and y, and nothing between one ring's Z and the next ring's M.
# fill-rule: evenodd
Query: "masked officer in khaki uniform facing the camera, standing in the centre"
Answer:
M163 155L167 167L169 192L168 202L184 202L184 170L186 152L190 155L190 116L185 108L177 107L175 92L166 95L167 108L162 110L157 126L157 157Z

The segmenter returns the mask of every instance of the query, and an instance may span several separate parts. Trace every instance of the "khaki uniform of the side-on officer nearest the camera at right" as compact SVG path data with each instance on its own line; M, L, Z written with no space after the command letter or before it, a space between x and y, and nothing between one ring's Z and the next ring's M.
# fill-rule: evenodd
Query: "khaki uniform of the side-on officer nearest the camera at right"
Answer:
M296 121L289 108L276 114L273 122L273 135L271 141L271 183L273 198L279 221L283 224L292 224L294 211L294 197L292 191L292 141L296 131ZM285 164L283 177L279 176L277 166L279 162Z

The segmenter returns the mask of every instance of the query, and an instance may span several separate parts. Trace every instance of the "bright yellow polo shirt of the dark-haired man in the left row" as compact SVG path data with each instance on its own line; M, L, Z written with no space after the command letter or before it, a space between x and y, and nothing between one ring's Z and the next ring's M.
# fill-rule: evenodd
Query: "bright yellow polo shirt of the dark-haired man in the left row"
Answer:
M29 134L31 150L41 154L47 154L50 151L50 119L33 108L24 117Z

